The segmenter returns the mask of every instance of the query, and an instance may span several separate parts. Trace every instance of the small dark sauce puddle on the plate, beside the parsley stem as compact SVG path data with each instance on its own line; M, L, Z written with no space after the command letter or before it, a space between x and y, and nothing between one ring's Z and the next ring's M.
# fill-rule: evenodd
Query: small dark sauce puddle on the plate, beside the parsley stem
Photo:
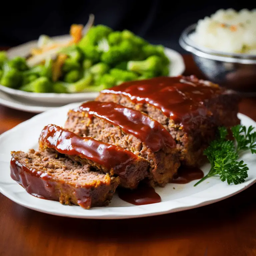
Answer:
M203 177L204 173L198 167L180 167L170 183L186 184Z

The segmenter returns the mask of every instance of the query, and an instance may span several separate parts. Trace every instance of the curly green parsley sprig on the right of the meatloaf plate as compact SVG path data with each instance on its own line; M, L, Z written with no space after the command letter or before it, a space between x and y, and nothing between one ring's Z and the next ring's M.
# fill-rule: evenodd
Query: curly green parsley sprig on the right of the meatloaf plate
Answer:
M243 150L251 150L256 153L256 131L250 126L236 125L231 128L233 137L236 141L227 140L228 135L225 127L219 127L219 138L212 141L209 147L204 151L207 156L211 169L207 175L199 180L194 186L212 176L219 176L221 181L227 181L228 184L235 185L243 183L248 177L249 168L244 161L237 161L239 153Z

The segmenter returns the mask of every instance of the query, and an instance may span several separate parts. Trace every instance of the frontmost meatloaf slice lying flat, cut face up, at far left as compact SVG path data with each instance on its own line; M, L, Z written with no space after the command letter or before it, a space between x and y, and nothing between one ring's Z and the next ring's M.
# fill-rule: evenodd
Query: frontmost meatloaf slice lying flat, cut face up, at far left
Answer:
M13 151L11 155L12 179L39 198L89 209L108 205L119 184L118 177L61 154L30 150L30 153Z

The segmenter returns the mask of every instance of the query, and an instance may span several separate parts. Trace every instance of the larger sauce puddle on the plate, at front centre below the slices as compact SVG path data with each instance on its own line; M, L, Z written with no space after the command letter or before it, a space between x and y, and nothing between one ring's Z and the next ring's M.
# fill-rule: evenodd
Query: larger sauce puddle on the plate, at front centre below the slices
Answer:
M143 183L134 190L119 188L118 196L125 202L134 205L155 204L161 202L161 197L155 192L155 189Z

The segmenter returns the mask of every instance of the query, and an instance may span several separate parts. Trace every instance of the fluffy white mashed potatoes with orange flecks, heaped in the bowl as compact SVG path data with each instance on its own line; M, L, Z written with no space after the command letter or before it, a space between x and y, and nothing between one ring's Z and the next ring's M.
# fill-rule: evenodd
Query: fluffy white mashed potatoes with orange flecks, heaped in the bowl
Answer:
M198 21L191 39L217 51L256 54L256 9L220 9Z

